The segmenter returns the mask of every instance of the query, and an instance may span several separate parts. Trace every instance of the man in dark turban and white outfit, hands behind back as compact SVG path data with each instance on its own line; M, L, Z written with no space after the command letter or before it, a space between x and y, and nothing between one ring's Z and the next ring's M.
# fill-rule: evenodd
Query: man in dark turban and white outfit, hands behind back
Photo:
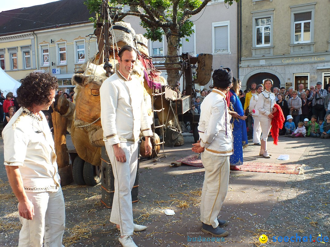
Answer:
M205 176L201 198L202 231L225 237L222 229L228 225L218 214L225 200L229 183L229 157L233 154L233 135L230 114L226 103L233 75L229 68L216 69L213 73L212 92L201 104L198 132L200 140L192 151L201 153Z

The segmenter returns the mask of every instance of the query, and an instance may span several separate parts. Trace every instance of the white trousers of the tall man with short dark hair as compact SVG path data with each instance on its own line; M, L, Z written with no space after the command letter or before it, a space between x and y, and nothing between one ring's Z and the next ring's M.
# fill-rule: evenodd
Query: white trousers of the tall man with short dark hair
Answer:
M135 182L138 166L138 143L121 142L126 162L118 162L112 145L105 142L115 177L115 194L110 221L120 226L120 235L133 235L133 209L131 191Z

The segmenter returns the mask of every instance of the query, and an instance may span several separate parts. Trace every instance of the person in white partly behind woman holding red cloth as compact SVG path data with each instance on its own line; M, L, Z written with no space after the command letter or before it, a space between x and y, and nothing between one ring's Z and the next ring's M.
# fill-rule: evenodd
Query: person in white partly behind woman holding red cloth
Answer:
M259 84L256 87L257 93L253 95L250 99L250 105L248 109L251 111L251 115L253 118L253 143L256 146L260 146L260 136L261 136L261 127L259 122L259 111L257 108L258 94L261 94L264 89L264 86ZM253 111L254 110L254 113Z

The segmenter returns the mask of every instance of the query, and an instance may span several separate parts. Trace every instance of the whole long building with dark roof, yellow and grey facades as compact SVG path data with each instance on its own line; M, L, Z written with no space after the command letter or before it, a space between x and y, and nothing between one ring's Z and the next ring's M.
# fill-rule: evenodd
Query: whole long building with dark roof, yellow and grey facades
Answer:
M61 90L73 89L75 69L96 52L96 38L89 38L94 14L83 3L61 0L1 12L1 68L18 81L33 71L50 72Z

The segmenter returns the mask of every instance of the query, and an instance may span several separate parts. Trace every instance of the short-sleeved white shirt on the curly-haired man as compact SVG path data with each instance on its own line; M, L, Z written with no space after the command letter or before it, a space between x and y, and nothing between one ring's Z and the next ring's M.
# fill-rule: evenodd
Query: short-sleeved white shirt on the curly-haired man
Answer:
M43 112L39 118L25 108L19 108L3 129L2 137L4 165L18 166L25 191L58 190L60 176L54 141Z

